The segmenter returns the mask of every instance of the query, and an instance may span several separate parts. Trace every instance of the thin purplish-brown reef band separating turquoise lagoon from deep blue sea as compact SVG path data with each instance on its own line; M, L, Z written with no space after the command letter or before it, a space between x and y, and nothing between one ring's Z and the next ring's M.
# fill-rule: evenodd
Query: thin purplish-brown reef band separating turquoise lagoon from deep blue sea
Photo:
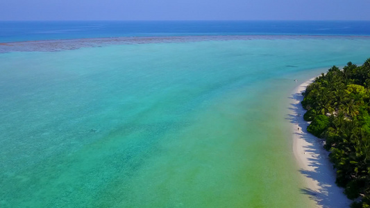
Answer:
M120 44L153 44L153 43L180 43L201 41L229 41L229 40L300 40L300 39L366 39L370 36L342 36L342 35L217 35L217 36L174 36L174 37L106 37L85 38L72 40L37 40L25 42L0 43L0 53L25 51L65 51L85 47L101 47Z

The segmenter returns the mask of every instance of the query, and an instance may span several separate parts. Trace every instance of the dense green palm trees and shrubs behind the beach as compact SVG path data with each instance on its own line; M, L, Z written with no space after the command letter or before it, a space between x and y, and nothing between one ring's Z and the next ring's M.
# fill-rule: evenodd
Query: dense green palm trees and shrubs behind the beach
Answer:
M370 58L362 66L348 62L331 67L303 92L312 121L308 131L325 139L336 183L344 187L351 207L370 207Z

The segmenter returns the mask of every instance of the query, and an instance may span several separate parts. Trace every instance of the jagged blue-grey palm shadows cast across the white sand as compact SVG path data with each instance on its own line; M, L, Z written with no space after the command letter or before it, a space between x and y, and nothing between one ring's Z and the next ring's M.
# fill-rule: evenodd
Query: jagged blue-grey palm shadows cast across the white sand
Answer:
M290 114L287 115L286 119L299 128L299 130L298 128L294 130L294 137L303 139L308 144L303 146L303 153L296 153L305 154L308 158L308 166L306 167L308 169L301 168L299 172L316 182L318 187L317 189L306 187L300 191L317 202L320 207L349 207L351 201L346 198L343 189L335 184L335 170L329 161L328 151L323 148L323 139L314 137L307 131L309 122L303 119L305 110L301 105L302 100L301 92L289 97L289 101L291 101ZM298 114L301 116L297 116Z

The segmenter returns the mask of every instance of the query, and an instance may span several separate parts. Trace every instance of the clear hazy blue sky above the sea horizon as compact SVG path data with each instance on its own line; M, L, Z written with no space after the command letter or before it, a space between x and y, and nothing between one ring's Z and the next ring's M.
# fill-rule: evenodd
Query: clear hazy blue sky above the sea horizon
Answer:
M0 20L370 20L370 0L1 0Z

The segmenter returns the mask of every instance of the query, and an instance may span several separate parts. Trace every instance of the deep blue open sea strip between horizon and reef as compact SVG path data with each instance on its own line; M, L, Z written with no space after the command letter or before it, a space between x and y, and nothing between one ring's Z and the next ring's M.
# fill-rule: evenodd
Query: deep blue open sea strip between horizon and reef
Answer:
M0 21L0 42L184 35L370 35L370 21Z

